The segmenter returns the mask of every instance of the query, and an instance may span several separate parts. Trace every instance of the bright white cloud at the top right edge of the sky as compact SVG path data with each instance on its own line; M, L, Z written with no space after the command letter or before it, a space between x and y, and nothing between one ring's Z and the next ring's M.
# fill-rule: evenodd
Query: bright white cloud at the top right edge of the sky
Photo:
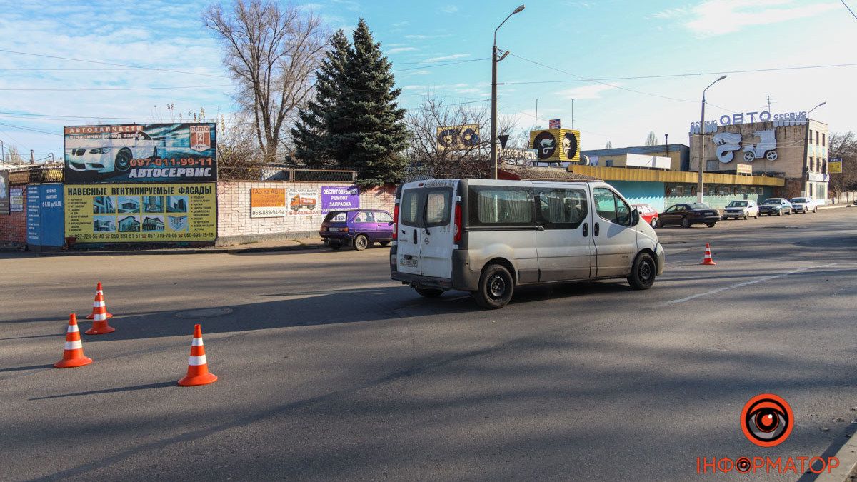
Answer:
M735 33L746 27L824 14L842 5L836 2L806 4L794 0L706 0L694 6L665 9L648 18L679 21L700 37Z

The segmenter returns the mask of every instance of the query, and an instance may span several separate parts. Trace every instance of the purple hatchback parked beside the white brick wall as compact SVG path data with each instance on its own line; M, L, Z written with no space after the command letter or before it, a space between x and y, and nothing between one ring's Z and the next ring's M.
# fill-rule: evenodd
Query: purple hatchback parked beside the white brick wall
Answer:
M375 242L387 246L393 241L393 216L382 209L331 211L321 222L319 234L332 250L351 245L362 251Z

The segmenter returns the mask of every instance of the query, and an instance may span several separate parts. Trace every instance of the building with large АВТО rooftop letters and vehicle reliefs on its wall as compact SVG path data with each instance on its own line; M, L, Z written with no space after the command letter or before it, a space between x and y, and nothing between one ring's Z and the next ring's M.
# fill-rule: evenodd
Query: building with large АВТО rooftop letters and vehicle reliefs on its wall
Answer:
M744 122L748 119L755 122ZM780 196L827 202L829 132L827 124L806 117L806 112L724 115L706 123L704 136L699 131L698 123L691 124L691 171L698 172L703 160L704 172L781 178Z

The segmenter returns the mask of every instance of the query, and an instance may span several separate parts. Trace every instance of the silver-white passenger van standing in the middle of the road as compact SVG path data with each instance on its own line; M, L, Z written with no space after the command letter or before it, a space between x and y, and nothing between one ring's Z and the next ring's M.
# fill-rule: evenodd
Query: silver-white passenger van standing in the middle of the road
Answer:
M396 196L390 276L424 297L505 306L515 286L663 273L655 230L602 181L428 179Z

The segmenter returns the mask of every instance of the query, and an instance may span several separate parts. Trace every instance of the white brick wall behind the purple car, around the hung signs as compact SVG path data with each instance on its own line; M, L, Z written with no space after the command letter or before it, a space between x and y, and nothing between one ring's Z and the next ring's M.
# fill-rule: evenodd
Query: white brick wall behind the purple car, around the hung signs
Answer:
M315 236L323 215L292 215L278 218L250 217L250 188L281 188L290 186L311 187L321 191L321 186L348 186L350 183L318 182L289 183L285 181L236 181L217 184L218 241L217 244L238 244L263 239L287 239ZM320 195L321 196L321 195ZM387 209L393 213L394 186L372 190L360 190L360 207ZM321 199L320 199L321 201ZM321 209L319 210L321 212Z

